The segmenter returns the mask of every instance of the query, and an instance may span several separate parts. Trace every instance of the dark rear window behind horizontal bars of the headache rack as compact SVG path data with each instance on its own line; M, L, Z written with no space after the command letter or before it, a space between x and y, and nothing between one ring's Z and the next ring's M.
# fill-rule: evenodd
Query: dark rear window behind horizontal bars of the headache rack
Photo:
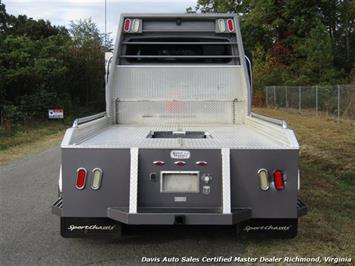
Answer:
M123 63L231 63L233 45L224 38L130 38L122 42ZM122 62L121 62L122 63Z

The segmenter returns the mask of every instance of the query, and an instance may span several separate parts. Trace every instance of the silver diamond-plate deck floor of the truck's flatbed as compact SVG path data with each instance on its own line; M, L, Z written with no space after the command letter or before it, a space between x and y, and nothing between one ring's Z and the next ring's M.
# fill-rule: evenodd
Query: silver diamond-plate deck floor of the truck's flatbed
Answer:
M204 139L149 138L151 131L205 131L210 137ZM287 141L287 140L286 140ZM137 126L112 125L92 135L71 148L217 148L238 149L288 149L290 143L270 138L248 125L231 126Z

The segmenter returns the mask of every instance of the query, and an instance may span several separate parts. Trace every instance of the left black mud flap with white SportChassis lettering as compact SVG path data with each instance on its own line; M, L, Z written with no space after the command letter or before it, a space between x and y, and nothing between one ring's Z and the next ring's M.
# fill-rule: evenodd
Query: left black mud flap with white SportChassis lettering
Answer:
M61 217L60 233L63 237L116 238L122 236L122 224L109 218Z

